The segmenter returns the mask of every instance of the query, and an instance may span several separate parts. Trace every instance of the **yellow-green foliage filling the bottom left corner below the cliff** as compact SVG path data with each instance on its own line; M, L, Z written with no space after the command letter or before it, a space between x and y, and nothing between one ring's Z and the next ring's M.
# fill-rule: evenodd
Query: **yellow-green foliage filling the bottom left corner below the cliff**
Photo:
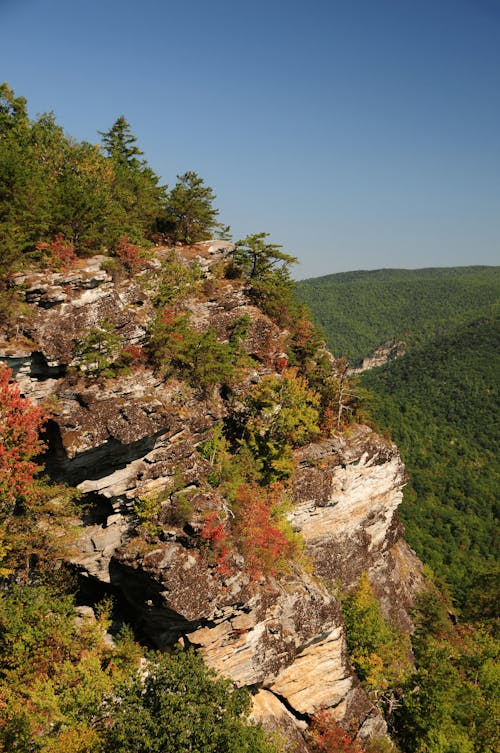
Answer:
M78 623L72 598L43 586L0 593L0 751L90 753L103 698L138 657L129 640L109 661L108 618Z

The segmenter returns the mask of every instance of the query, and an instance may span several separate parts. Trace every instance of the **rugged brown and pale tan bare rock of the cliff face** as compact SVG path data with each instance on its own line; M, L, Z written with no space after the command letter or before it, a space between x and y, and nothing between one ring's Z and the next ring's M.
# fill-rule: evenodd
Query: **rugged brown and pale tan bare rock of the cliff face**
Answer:
M227 250L206 243L184 254L210 281ZM297 750L305 749L301 729L320 708L355 722L361 736L383 732L351 669L332 586L352 587L368 571L385 613L410 629L407 609L421 566L396 514L405 483L397 448L354 426L297 450L289 518L312 567L295 564L286 576L257 583L241 567L221 576L199 546L200 530L207 511L227 505L206 482L211 467L197 447L230 412L227 395L164 380L145 365L112 379L71 370L81 364L78 342L104 320L122 347L144 341L154 314L149 281L158 264L113 278L104 257L94 257L68 272L15 279L30 314L17 331L4 333L0 358L34 402L55 398L46 465L89 503L73 562L82 576L123 595L152 643L181 639L237 685L251 686L256 718L278 719ZM244 393L274 373L286 333L250 303L241 282L225 280L215 293L210 285L207 291L183 304L200 331L210 326L224 341L239 317L250 317L244 347L254 366L235 388ZM163 494L164 522L144 538L137 535L133 504L155 494ZM188 521L174 514L176 494L189 501Z

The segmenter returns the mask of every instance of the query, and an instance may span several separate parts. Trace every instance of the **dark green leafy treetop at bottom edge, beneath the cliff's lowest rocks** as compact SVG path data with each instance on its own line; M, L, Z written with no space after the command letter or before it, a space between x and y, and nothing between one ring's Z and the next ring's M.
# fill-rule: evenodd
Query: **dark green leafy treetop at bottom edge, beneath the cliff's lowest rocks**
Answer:
M193 652L155 654L144 680L112 702L105 753L272 753L260 727L249 725L246 691L216 678Z

